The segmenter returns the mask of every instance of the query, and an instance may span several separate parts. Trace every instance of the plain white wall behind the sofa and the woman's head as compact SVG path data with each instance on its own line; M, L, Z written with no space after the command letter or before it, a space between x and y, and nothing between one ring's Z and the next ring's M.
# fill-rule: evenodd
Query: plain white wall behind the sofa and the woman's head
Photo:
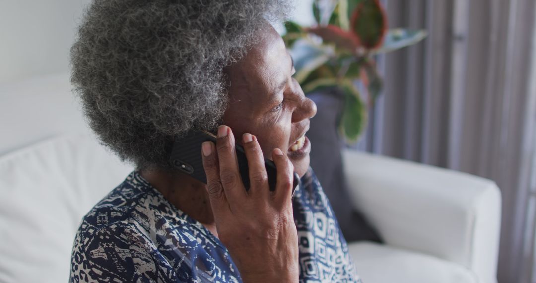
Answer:
M0 0L0 84L69 72L69 49L90 0ZM312 0L297 0L298 23L314 19Z

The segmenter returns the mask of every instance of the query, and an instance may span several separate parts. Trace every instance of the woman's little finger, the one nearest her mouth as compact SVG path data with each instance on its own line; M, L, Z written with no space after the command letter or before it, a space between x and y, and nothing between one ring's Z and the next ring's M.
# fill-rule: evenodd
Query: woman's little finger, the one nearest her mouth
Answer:
M272 151L273 162L277 168L276 202L292 205L292 188L294 183L294 166L279 148Z

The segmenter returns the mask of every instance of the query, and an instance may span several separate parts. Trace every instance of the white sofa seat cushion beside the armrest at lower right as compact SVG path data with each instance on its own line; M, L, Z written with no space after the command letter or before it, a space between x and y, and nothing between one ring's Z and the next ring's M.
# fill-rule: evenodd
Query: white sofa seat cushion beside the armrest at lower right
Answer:
M371 242L349 243L357 271L366 283L473 283L474 274L456 263Z

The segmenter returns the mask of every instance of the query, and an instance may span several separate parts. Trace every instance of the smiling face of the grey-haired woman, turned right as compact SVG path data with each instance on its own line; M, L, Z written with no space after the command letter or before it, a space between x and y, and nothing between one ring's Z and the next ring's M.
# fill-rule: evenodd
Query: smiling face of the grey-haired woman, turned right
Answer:
M309 167L310 143L304 134L316 105L306 98L292 77L294 66L281 36L273 27L241 61L226 68L229 106L224 123L237 143L242 134L257 137L264 157L272 159L274 148L286 152L294 171L303 176Z

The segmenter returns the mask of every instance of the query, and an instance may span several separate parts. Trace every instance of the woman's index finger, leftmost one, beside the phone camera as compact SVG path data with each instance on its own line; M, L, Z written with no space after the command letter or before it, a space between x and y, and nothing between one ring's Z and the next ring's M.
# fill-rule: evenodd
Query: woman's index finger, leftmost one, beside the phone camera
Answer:
M220 182L218 165L218 153L211 141L205 141L202 145L203 167L205 168L207 190L209 191L210 204L214 215L222 215L228 210L229 205L225 196L224 187Z

